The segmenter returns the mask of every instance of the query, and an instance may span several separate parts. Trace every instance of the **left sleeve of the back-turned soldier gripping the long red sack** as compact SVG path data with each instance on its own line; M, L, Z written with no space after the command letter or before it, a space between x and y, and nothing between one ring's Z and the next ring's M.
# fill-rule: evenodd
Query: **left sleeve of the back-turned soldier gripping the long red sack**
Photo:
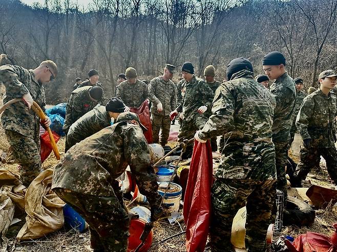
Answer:
M200 130L199 138L207 140L235 129L234 108L235 91L227 85L219 87L212 104L212 116Z

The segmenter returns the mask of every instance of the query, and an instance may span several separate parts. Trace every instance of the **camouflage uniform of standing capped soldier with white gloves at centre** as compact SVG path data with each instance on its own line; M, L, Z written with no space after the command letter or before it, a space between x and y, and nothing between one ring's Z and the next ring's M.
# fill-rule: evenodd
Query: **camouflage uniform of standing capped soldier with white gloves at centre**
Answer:
M149 98L151 105L152 141L159 143L159 131L161 128L160 144L167 144L170 135L170 113L176 109L176 85L172 80L165 81L162 76L153 78L149 85ZM163 110L158 112L157 104L161 102Z

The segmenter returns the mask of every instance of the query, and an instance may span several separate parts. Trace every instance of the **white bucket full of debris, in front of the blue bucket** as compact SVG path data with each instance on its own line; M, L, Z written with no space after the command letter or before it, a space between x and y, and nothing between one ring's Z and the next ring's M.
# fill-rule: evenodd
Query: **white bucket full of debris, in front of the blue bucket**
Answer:
M166 182L159 184L158 193L161 196L164 196L167 185L168 183ZM171 183L170 188L167 190L165 198L163 200L163 204L168 207L169 212L173 213L179 211L181 192L181 186L175 183Z

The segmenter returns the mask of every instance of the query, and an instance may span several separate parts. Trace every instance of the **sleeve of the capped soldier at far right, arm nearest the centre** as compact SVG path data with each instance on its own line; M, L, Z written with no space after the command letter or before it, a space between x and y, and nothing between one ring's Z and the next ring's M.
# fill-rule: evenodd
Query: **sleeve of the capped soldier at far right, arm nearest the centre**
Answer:
M302 139L311 139L311 136L308 131L309 120L312 116L314 109L313 100L310 98L304 98L300 111L297 114L296 118L296 127L300 131Z

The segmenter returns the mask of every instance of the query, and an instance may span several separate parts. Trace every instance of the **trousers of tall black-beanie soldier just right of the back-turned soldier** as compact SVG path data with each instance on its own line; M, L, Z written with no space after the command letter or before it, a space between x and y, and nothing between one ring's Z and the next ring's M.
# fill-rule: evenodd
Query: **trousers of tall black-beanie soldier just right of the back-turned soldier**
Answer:
M277 176L277 189L284 193L284 200L287 200L287 179L285 176L285 166L288 157L288 141L277 142L273 141L275 145L275 165Z

